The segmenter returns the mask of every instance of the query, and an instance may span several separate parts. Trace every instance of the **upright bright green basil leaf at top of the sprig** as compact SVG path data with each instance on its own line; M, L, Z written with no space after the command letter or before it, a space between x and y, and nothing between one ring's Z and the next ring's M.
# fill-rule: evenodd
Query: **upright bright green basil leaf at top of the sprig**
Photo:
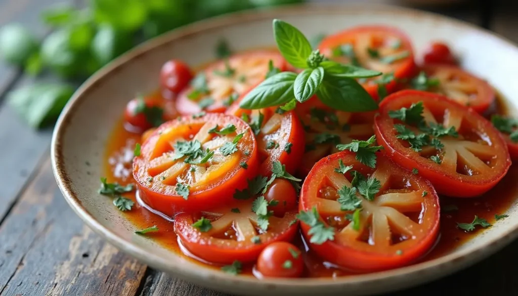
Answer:
M311 53L311 45L304 34L291 24L275 19L274 36L286 61L297 68L308 67L306 60Z

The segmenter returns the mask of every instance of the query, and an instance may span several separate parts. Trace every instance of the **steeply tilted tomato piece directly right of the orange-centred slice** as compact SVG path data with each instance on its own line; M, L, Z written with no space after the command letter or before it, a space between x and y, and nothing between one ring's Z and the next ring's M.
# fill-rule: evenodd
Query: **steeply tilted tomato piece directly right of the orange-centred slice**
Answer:
M239 108L243 94L228 110L251 124L259 148L259 173L271 176L274 162L285 165L286 172L294 174L304 153L304 129L294 111L278 114L276 108L247 110Z

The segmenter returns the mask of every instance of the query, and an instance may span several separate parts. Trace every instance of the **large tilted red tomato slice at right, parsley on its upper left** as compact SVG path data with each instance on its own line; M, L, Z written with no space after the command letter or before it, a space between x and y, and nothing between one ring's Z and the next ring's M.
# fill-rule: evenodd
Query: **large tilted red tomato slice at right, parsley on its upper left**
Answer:
M424 106L422 115L427 124L439 124L447 129L453 126L458 133L457 137L440 137L444 145L440 150L425 146L417 152L409 147L407 140L397 138L394 126L402 122L391 118L389 112L419 102ZM506 143L491 122L445 96L404 90L386 97L379 112L375 117L375 132L387 155L407 170L416 168L441 194L480 195L493 188L511 165ZM420 133L415 126L406 126Z

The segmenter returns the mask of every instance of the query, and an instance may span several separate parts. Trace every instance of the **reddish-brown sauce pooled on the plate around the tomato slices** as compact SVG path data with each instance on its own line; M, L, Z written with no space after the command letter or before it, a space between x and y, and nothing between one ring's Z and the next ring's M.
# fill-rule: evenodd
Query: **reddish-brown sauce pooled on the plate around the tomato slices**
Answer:
M158 92L155 96L161 98L161 94ZM501 98L497 97L496 103L491 107L491 113L506 114L507 112L502 106ZM132 175L132 159L135 144L140 142L140 134L126 131L123 123L123 119L121 119L108 139L104 156L104 171L108 182L118 182L121 185L126 185L135 182ZM495 215L505 214L516 201L515 196L518 194L518 186L515 185L515 182L517 178L518 165L512 165L507 175L497 186L478 198L454 199L441 196L440 235L435 247L420 261L427 261L447 255L455 248L484 231L484 229L477 227L475 231L466 233L457 228L457 222L471 223L474 216L477 215L491 224L498 223L498 221L495 221ZM135 192L126 193L124 196L135 202L130 211L123 213L135 225L136 229L145 229L156 225L159 231L146 234L154 242L178 253L180 256L189 258L193 262L220 269L220 265L209 265L185 255L178 245L172 221L152 213L139 203ZM357 274L357 272L343 270L328 262L323 262L313 251L306 247L301 235L297 235L292 243L303 251L306 265L304 276L306 277L338 277ZM253 266L251 265L243 266L243 274L251 275L252 269Z

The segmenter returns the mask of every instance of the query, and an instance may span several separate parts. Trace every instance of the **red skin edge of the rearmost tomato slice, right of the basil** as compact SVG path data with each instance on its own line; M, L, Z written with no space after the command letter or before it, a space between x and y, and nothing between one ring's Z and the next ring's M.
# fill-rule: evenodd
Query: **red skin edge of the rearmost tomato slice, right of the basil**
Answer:
M335 35L328 36L322 40L322 42L319 45L320 51L325 50L326 48L333 48L336 45L340 44L340 40L347 40L350 38L349 36L353 34L368 32L368 31L385 31L387 34L394 34L398 36L401 40L402 46L405 48L408 48L408 51L410 52L408 58L406 58L406 62L401 65L397 71L394 72L395 80L401 80L404 78L408 78L412 76L413 73L415 73L416 64L414 59L414 52L412 48L412 43L410 41L410 38L401 30L397 29L396 27L391 26L383 26L383 25L366 25L366 26L357 26L353 27L352 29L347 29L342 32L339 32ZM368 84L363 83L361 84L363 88L375 99L378 99L378 85L377 84ZM397 81L392 81L391 83L388 83L385 85L386 90L388 93L392 93L396 90L398 87Z

